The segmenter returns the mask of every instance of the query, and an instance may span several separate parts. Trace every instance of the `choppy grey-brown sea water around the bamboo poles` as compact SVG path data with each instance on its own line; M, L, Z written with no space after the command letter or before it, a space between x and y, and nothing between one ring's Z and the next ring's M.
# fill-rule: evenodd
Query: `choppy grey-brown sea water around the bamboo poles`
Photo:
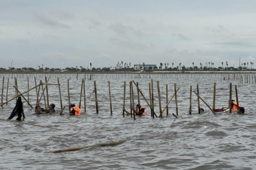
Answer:
M99 114L96 114L93 80L88 74L1 74L0 95L6 101L7 78L9 77L8 99L15 96L14 77L20 92L38 84L45 76L49 83L56 84L57 77L61 84L61 98L66 106L64 115L61 111L57 85L48 86L49 103L56 105L52 115L35 115L36 91L29 92L29 102L33 109L23 101L26 122L38 127L16 121L0 120L0 170L126 170L126 169L172 169L172 170L254 170L256 169L256 84L239 83L238 80L223 80L221 74L97 74L97 97ZM141 78L140 78L141 77ZM67 79L70 81L71 103L79 105L81 79L85 78L86 112L84 96L81 100L81 116L69 116ZM168 99L177 92L178 117L175 98L169 104L163 118L152 118L150 108L140 95L140 104L146 107L146 116L122 115L124 81L126 81L125 108L130 111L129 82L134 80L145 98L149 101L148 83L154 81L154 111L159 115L157 81L160 84L162 109L166 105L166 84ZM111 85L112 111L108 81ZM217 113L214 115L200 101L204 113L198 114L197 96L192 93L192 114L189 115L190 85L212 107L213 84L216 82L215 108L228 105L230 82L232 97L236 100L235 85L239 94L239 105L245 108L244 114ZM134 103L137 102L137 89L134 88ZM42 90L40 90L40 95ZM1 98L2 96L0 96ZM28 95L24 94L27 99ZM15 99L0 107L0 118L7 119L15 106ZM44 99L40 102L45 107ZM101 147L97 144L125 140L115 146ZM61 150L72 147L91 146L81 150L62 153L45 153L49 150Z

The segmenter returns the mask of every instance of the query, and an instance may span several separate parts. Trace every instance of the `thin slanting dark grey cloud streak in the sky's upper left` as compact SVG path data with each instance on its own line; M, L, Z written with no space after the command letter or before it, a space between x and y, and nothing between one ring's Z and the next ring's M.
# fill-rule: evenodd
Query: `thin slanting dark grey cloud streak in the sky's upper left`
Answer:
M52 20L51 18L41 15L41 14L36 14L34 13L34 17L42 24L47 25L47 26L52 26L52 27L60 27L60 28L71 28L70 26L60 23L58 21Z

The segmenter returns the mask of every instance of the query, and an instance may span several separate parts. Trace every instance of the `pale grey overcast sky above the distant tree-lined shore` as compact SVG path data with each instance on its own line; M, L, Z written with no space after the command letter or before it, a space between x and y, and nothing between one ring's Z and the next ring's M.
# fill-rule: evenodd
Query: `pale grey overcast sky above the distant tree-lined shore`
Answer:
M255 0L0 0L0 67L256 63Z

